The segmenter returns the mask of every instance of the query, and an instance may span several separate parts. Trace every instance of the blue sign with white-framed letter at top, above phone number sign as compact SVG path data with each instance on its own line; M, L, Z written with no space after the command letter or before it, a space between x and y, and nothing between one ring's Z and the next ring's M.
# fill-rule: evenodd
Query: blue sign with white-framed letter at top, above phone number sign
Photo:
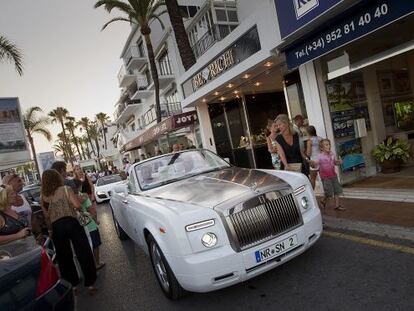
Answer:
M340 2L344 0L275 0L282 39L317 19Z

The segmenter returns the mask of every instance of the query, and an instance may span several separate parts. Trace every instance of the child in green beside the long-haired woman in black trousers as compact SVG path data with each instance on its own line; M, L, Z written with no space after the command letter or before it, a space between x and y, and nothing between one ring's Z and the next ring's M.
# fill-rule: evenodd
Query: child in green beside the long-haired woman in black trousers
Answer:
M79 197L82 202L82 210L84 212L89 212L89 209L92 207L92 202L89 199L88 194L81 193L82 189L82 181L79 179L74 179L75 185L77 189L79 189ZM89 235L91 237L92 241L92 250L93 250L93 256L95 257L95 265L96 270L99 270L105 266L104 262L100 261L99 258L99 246L102 244L101 242L101 235L99 234L98 225L96 224L96 219L91 215L91 221L85 226L85 228L88 230Z

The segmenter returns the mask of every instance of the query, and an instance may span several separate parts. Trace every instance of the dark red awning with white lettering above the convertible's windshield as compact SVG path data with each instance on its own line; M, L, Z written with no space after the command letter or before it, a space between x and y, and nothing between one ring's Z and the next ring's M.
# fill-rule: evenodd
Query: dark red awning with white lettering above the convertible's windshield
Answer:
M178 130L180 128L190 126L198 121L197 111L189 111L180 114L176 114L168 117L160 123L150 127L141 135L127 142L123 147L122 151L130 151L145 145L158 137Z

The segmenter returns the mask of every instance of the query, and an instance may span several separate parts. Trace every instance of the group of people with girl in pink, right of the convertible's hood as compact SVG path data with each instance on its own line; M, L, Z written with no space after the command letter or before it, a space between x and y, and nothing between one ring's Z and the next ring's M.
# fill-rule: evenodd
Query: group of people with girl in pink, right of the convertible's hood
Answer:
M267 130L273 168L303 173L314 189L320 179L324 190L321 206L325 208L333 198L335 210L344 211L340 203L343 190L335 171L342 160L331 150L330 140L319 137L314 126L305 126L302 115L295 116L291 123L286 114L280 114L268 123Z

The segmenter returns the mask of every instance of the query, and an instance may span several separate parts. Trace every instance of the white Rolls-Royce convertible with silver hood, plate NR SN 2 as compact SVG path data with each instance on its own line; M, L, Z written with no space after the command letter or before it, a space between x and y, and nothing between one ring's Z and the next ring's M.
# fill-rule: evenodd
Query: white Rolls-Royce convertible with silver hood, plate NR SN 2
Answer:
M170 299L248 280L322 234L306 176L235 167L203 149L132 165L110 205L118 237L149 255Z

